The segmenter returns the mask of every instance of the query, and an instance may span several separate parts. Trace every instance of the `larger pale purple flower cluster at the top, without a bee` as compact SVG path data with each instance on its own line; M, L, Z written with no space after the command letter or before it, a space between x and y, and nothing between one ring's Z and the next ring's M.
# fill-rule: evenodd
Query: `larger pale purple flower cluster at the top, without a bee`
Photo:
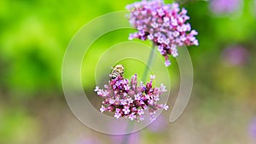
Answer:
M195 30L186 21L189 20L186 9L179 9L177 3L165 4L162 0L143 0L126 7L131 14L130 23L138 32L131 33L129 39L149 39L158 46L160 54L170 66L169 55L177 56L177 46L198 45Z

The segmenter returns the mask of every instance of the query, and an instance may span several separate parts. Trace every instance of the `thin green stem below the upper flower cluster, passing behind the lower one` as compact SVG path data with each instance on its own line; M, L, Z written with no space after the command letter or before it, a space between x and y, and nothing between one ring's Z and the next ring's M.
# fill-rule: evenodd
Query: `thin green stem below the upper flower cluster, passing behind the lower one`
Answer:
M147 79L148 76L148 71L149 71L149 67L152 65L152 61L154 58L154 43L152 44L152 49L150 51L149 57L148 57L148 62L147 62L147 66L145 67L144 73L143 73L143 78L142 78L142 82L144 83ZM127 124L127 131L130 131L133 129L133 125L134 123L129 122ZM122 144L127 144L127 142L129 141L129 136L130 135L124 135Z

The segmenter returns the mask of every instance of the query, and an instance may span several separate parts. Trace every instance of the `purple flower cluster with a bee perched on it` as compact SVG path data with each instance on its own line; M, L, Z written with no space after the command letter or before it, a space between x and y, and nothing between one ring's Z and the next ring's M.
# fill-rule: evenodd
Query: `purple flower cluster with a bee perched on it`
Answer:
M160 88L154 88L152 82L154 76L150 77L149 83L137 84L137 74L132 76L131 82L119 76L105 84L105 89L96 86L97 95L103 98L101 112L114 113L114 118L130 118L131 120L143 121L144 112L148 110L151 120L154 113L160 109L168 109L166 104L158 104L160 95L166 92L166 86L161 84Z

